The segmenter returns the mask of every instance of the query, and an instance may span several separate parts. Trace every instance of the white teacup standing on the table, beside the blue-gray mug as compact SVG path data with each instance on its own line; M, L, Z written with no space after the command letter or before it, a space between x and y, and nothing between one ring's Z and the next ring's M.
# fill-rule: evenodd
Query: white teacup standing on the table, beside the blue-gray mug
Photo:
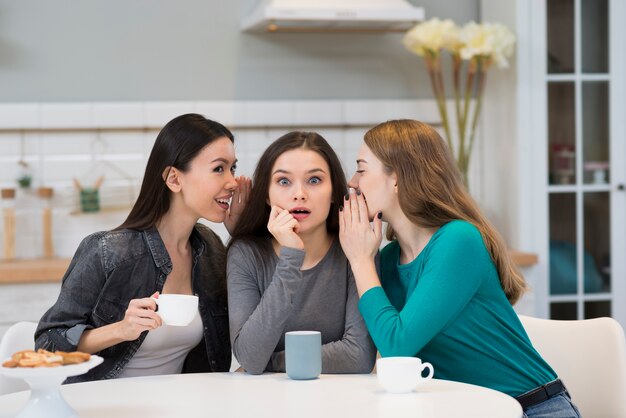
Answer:
M422 376L426 368L430 370L428 376ZM387 392L408 393L430 380L434 369L432 364L422 363L417 357L382 357L376 360L376 374Z

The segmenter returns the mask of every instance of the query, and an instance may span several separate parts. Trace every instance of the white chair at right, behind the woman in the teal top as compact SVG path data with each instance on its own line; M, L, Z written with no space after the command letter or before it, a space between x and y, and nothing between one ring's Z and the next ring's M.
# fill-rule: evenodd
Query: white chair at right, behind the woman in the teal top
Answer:
M583 417L626 417L626 340L616 320L519 318Z

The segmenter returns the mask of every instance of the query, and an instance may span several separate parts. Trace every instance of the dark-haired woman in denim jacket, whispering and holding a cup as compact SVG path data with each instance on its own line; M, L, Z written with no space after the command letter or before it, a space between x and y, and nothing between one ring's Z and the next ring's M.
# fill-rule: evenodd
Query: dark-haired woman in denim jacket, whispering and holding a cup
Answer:
M171 120L126 221L81 242L35 333L37 348L104 358L67 382L229 370L225 248L197 221L232 229L245 205L249 179L234 177L233 142L201 115ZM150 298L159 293L197 295L191 324L163 324Z

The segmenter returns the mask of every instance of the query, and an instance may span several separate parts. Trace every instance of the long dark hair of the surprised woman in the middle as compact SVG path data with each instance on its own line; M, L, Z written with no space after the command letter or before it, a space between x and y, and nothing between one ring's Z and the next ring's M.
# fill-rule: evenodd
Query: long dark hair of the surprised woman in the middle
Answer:
M272 142L259 159L252 177L252 189L248 197L248 203L239 216L229 246L240 238L258 241L259 238L271 236L267 230L271 209L267 204L267 199L269 198L272 168L278 157L296 148L315 151L328 164L332 185L332 200L329 215L326 219L326 230L331 235L339 233L338 210L348 187L339 157L337 157L335 151L320 134L295 131L289 132Z

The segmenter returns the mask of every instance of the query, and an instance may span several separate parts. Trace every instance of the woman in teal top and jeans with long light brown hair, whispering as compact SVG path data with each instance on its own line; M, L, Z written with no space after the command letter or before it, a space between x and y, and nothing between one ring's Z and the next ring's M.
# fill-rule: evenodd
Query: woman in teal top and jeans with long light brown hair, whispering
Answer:
M374 127L349 186L339 236L381 355L417 356L437 378L507 393L525 417L579 417L512 308L524 278L437 132L412 120ZM391 243L379 278L382 221Z

